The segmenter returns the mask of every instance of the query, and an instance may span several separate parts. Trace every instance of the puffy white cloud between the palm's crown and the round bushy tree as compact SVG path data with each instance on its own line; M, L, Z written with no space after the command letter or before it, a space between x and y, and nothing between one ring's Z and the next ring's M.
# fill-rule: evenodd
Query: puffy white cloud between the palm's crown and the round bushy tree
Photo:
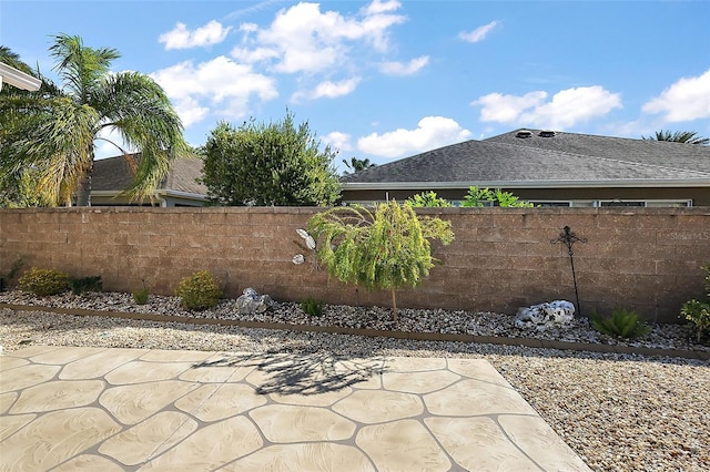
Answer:
M278 95L275 81L253 72L251 65L237 64L217 57L196 66L192 61L160 70L151 76L175 103L175 110L185 126L202 121L211 107L217 113L240 117L248 113L253 96L267 101ZM205 103L206 102L206 103Z

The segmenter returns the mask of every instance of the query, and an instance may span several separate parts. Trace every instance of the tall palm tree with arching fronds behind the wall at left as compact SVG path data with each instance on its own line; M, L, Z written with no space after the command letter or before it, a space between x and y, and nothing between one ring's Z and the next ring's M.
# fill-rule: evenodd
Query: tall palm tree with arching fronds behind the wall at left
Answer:
M115 49L85 47L59 34L50 53L63 89L41 76L38 92L0 95L0 172L39 171L38 189L53 205L90 205L95 142L115 145L135 173L129 194L148 197L173 158L189 154L183 126L165 92L139 72L111 73ZM115 132L126 147L105 137ZM131 154L140 152L135 160Z

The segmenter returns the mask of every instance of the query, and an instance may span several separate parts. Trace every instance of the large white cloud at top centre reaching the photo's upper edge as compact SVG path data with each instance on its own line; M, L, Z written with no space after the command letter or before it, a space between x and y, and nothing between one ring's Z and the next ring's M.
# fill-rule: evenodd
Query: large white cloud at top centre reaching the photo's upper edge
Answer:
M318 3L298 3L278 11L268 28L243 25L244 40L232 57L247 63L272 61L274 70L283 73L329 71L347 63L352 47L369 44L386 51L389 28L405 21L390 13L397 8L396 1L375 0L359 17L344 17L322 12Z

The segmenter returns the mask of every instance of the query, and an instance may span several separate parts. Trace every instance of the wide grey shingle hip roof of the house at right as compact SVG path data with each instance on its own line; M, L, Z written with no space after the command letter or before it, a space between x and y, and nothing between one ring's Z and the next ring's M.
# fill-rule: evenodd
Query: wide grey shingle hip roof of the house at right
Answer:
M466 141L343 177L344 188L710 186L710 146L575 133Z

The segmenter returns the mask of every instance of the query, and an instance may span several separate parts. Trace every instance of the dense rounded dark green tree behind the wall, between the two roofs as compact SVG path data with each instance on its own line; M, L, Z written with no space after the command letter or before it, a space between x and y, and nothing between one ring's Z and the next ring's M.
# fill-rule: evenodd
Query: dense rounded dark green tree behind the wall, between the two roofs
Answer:
M202 182L214 204L328 206L339 197L329 146L320 150L308 123L220 123L202 150Z

